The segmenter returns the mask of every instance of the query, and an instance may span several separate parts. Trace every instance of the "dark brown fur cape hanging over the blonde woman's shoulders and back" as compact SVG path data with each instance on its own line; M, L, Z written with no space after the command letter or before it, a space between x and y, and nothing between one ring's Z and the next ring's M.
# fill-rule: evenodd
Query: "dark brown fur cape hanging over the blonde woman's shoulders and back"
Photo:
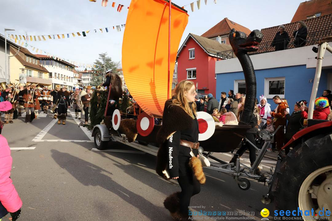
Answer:
M157 153L156 172L164 178L163 170L168 164L168 147L165 140L174 132L191 127L192 118L180 107L172 105L172 100L165 102L163 112L163 124L157 134L157 140L161 143Z

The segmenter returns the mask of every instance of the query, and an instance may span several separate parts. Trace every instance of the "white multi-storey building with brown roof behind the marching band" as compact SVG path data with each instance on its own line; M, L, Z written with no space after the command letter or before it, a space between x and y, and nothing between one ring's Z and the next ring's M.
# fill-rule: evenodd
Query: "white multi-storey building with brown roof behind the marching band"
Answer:
M63 60L55 60L46 55L36 54L36 56L41 59L40 64L48 70L49 79L52 79L53 89L54 85L57 84L67 86L67 90L72 90L75 87L73 72L75 65Z

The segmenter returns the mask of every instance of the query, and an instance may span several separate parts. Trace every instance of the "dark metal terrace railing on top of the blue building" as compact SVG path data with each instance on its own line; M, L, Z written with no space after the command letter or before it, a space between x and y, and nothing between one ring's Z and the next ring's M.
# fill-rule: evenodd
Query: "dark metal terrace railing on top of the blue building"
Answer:
M320 38L330 36L330 35L332 35L332 28L308 33L305 44L303 44L301 46L309 46L309 45L318 44L318 40ZM258 47L259 47L258 51L249 52L248 54L250 54L250 55L261 54L261 53L275 51L275 46L274 47L271 46L273 43L279 44L279 47L283 48L282 50L287 50L287 49L298 47L298 46L294 45L294 41L295 41L295 37L293 37L293 36L290 36L290 38L288 38L288 39L282 39L281 41L278 41L278 42L273 42L273 41L264 42L264 38L263 38L263 42L258 45ZM217 60L230 59L230 58L235 57L235 56L233 56L232 53L230 53L230 51L233 52L233 50L218 52Z

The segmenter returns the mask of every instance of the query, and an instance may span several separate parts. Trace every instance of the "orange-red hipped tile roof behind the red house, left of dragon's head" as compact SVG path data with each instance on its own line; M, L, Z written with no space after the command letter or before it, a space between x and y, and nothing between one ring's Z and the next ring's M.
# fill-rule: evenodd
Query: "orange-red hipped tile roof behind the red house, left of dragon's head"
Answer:
M235 22L232 22L228 18L224 18L218 24L216 24L212 28L208 29L201 36L207 37L207 38L217 37L217 36L220 36L220 35L228 34L229 31L232 28L235 28L235 30L237 30L237 31L243 31L247 35L249 35L250 32L251 32L251 30L249 30L248 28L246 28L246 27L244 27L242 25L239 25L239 24L237 24Z

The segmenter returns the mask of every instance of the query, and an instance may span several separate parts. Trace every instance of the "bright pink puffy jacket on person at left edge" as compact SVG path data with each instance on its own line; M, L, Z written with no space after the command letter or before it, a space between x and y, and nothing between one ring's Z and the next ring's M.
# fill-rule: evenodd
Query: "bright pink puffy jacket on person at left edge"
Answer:
M0 135L0 201L8 212L16 212L22 207L22 200L9 178L12 162L8 142Z

